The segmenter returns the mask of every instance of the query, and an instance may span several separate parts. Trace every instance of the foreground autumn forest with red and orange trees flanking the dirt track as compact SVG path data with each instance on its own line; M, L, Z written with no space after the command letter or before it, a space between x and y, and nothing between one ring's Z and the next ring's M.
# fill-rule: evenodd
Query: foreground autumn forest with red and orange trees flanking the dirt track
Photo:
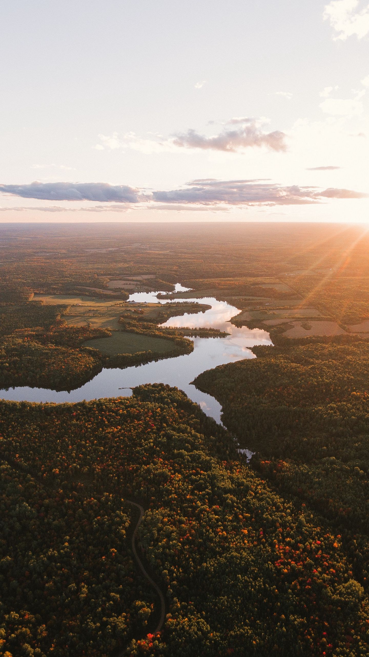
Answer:
M179 390L1 404L3 656L368 654L368 600L339 532L240 462ZM167 599L133 564L131 509Z

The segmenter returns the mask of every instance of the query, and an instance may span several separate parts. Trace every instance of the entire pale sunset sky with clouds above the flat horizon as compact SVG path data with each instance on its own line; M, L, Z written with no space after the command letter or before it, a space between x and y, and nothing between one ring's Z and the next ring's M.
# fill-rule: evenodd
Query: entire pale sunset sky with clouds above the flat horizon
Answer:
M0 222L369 221L368 0L0 0Z

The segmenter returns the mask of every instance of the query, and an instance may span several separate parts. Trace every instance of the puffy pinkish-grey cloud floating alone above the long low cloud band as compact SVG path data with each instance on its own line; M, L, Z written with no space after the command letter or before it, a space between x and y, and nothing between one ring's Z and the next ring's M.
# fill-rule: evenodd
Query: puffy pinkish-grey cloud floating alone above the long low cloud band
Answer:
M200 135L196 130L188 130L184 134L177 134L173 144L179 148L200 148L202 150L223 150L225 152L236 152L237 150L250 147L271 148L271 150L286 150L286 135L275 130L265 133L257 122L250 118L235 118L232 124L240 124L240 127L230 130L225 129L219 135L206 137Z

